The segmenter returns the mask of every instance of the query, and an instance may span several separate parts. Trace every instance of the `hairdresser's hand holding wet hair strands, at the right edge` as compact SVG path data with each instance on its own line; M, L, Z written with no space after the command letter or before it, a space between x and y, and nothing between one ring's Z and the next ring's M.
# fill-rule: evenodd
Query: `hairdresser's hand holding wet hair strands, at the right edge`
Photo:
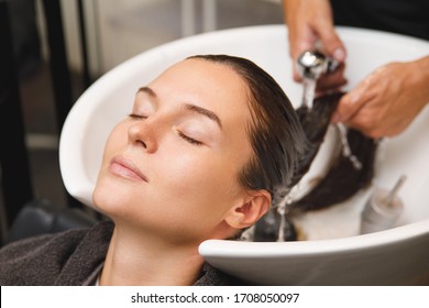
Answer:
M332 122L372 138L403 132L429 101L429 56L391 63L370 74L340 100Z

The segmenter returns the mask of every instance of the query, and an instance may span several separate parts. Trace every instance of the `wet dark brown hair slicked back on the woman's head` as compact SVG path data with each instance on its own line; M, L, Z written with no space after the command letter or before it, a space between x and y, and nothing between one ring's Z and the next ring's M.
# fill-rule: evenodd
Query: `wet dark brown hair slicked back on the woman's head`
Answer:
M297 113L282 87L252 61L230 55L196 55L235 70L249 88L252 122L248 127L254 156L239 174L251 190L265 189L276 204L296 184L299 157L308 147Z

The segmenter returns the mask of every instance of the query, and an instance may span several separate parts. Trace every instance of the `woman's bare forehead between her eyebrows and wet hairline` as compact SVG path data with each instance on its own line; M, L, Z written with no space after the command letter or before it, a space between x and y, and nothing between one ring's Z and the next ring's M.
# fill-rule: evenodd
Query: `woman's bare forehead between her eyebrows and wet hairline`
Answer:
M250 119L249 89L230 66L191 58L175 64L148 85L160 97L195 103L216 112L222 122Z

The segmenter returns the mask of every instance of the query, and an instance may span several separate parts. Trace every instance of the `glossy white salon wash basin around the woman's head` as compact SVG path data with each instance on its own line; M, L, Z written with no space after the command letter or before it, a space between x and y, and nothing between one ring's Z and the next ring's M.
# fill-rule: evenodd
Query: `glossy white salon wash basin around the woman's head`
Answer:
M391 61L429 54L429 43L376 31L338 28L349 51L349 87ZM283 24L258 25L200 34L144 52L99 78L73 107L63 128L59 163L68 193L92 206L91 194L106 139L128 114L135 90L173 63L194 54L244 56L265 68L293 103L302 87L292 79ZM346 90L346 89L345 89ZM359 235L360 211L373 187L328 210L299 221L307 240L299 242L206 241L200 254L224 272L252 284L395 285L429 283L429 109L400 136L384 140L374 185L392 187L402 174L405 211L395 228ZM329 142L329 136L328 141ZM318 154L323 162L329 151ZM318 163L316 173L323 167Z

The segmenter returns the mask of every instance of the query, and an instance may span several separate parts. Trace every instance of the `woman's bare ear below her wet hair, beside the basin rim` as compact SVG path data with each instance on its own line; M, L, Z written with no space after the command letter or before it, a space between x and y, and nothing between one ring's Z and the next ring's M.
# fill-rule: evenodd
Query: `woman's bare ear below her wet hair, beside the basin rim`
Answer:
M233 207L224 221L234 229L244 229L255 223L266 213L271 205L271 195L266 190L252 191L243 204Z

